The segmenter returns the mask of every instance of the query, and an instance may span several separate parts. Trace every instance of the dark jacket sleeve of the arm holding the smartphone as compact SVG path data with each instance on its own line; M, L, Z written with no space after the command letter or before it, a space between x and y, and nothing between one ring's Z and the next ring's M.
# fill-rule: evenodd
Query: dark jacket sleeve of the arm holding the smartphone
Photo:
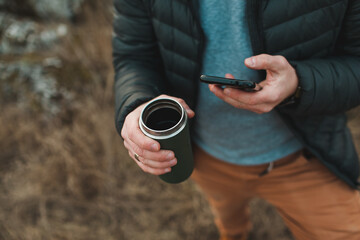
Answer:
M335 114L360 104L360 0L350 0L336 55L293 61L301 98L281 108L295 115Z

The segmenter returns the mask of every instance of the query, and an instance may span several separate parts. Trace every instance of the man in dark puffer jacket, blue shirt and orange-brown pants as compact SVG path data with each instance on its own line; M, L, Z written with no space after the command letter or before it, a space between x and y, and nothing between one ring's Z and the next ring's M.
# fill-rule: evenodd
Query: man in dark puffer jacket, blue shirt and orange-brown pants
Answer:
M360 239L344 114L360 103L360 0L114 3L116 128L143 171L164 174L177 161L138 126L144 103L165 94L193 119L192 178L222 240L246 239L255 196L296 239ZM200 73L263 89L207 86Z

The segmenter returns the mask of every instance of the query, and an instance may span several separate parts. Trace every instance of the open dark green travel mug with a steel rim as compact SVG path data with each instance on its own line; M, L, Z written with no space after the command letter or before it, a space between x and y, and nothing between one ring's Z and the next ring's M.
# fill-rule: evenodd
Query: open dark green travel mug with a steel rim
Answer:
M139 126L148 137L157 140L161 149L172 150L177 164L159 177L167 183L180 183L194 169L187 114L183 106L170 98L150 101L141 112Z

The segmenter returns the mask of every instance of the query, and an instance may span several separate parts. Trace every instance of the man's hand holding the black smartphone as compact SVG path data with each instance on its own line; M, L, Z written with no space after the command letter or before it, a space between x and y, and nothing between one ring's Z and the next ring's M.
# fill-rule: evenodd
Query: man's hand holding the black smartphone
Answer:
M270 112L279 103L295 93L299 79L295 69L283 56L261 54L245 59L248 68L266 70L266 79L260 83L259 92L245 92L235 88L225 88L209 84L209 89L217 97L230 105L255 113ZM227 78L234 78L226 74Z

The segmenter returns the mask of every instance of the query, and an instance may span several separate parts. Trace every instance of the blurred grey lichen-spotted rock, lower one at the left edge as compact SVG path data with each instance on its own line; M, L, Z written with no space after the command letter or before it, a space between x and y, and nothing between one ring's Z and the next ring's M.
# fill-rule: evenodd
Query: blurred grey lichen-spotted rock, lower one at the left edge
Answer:
M46 58L41 63L0 62L0 94L2 101L15 101L23 109L34 104L47 114L57 114L61 104L72 99L71 94L57 86L56 78L48 73L49 67L61 67L58 58Z

